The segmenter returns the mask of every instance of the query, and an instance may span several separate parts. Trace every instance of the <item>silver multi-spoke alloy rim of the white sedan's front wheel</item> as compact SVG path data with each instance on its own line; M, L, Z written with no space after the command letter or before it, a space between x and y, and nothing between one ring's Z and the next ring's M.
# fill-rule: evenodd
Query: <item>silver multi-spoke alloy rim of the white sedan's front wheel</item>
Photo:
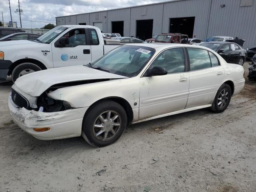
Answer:
M121 128L120 115L115 111L105 111L100 114L93 124L93 134L100 141L112 139Z

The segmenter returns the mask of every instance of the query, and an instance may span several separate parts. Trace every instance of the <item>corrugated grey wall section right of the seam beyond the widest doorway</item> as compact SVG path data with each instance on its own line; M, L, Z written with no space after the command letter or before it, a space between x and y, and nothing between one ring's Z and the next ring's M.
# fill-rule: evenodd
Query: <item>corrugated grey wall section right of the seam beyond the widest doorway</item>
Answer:
M256 1L240 7L240 0L213 0L207 38L217 35L245 39L245 48L256 44Z

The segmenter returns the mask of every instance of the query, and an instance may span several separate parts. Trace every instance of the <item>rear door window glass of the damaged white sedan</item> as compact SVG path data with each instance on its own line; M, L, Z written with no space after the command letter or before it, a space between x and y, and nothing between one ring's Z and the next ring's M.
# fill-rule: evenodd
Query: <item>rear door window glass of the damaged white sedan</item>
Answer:
M188 48L190 71L202 70L212 67L207 50Z

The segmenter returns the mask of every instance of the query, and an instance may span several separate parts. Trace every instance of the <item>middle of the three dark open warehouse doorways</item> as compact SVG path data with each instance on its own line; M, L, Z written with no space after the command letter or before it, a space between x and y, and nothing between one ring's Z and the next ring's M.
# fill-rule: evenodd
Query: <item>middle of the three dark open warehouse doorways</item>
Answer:
M146 40L152 38L153 20L136 20L136 38Z

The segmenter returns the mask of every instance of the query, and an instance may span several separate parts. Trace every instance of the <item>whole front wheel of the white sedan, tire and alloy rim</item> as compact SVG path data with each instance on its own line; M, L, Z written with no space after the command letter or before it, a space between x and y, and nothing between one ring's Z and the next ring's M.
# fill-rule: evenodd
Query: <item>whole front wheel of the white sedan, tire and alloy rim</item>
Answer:
M82 136L92 146L107 146L120 138L126 125L127 115L124 108L116 102L104 100L86 112Z

